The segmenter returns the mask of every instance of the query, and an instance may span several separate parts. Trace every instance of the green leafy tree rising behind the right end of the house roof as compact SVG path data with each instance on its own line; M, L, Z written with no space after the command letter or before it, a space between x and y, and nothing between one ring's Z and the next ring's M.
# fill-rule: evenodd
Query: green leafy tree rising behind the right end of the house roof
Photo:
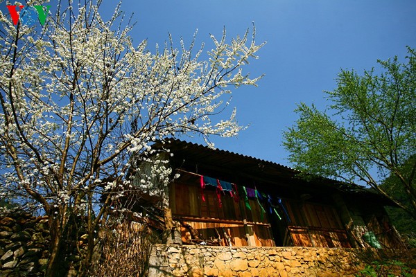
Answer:
M284 147L298 169L348 183L365 181L416 218L415 50L408 47L406 63L397 56L377 62L379 73L341 70L338 87L325 92L331 102L325 111L298 105L300 118L284 132ZM408 205L379 186L390 176L397 178Z

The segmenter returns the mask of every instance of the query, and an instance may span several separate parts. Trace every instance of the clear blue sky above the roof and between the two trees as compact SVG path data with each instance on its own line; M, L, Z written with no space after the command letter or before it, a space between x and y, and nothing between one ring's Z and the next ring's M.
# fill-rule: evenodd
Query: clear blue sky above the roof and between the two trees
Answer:
M114 7L108 3L103 2L105 13ZM239 123L250 127L238 138L214 142L223 150L285 165L282 132L295 123L297 103L323 108L322 91L336 87L341 68L362 73L377 59L398 55L402 60L406 45L416 46L414 0L125 0L121 7L127 15L134 12L134 42L148 39L151 51L168 33L175 42L182 36L189 43L198 28L198 42L209 42L209 33L220 36L223 26L232 37L254 21L257 42L267 44L249 71L266 76L259 87L239 88L232 96Z

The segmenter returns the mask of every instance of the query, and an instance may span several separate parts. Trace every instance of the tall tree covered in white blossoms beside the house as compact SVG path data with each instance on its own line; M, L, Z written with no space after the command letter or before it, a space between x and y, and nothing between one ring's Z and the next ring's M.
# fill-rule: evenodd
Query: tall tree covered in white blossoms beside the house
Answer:
M14 25L0 14L0 199L49 215L46 276L57 270L62 235L76 217L86 219L89 265L97 226L132 188L132 159L176 134L236 136L235 109L227 120L212 116L227 107L230 89L261 78L241 70L263 45L254 29L251 40L211 35L208 60L200 59L203 45L193 52L181 40L178 50L171 37L151 53L146 40L132 44L119 7L105 21L100 3L59 3L44 26ZM159 168L153 172L171 176Z

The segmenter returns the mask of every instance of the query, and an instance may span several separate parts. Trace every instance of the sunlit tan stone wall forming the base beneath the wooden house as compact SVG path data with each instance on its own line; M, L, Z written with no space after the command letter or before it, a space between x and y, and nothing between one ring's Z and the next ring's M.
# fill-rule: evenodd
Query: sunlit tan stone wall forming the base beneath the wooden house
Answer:
M148 276L354 276L374 249L156 244Z

